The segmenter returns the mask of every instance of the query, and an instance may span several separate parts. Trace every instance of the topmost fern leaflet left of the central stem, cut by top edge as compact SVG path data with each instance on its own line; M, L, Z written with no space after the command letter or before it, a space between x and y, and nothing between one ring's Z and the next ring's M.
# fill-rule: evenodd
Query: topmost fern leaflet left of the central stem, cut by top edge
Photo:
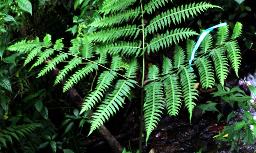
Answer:
M122 11L126 9L129 5L136 2L136 0L105 0L102 4L100 13L104 13L104 15L108 13L115 13L117 11Z

